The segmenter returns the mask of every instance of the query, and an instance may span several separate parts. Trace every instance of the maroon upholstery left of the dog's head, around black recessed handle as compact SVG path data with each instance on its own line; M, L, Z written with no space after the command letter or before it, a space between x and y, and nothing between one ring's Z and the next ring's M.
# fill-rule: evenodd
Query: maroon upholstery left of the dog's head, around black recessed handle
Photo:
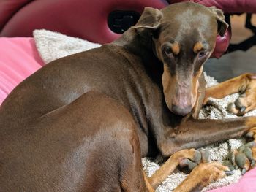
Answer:
M91 42L112 42L119 34L108 28L110 12L117 9L143 12L144 7L161 9L166 5L165 0L36 0L18 9L0 35L31 37L35 28L45 28Z

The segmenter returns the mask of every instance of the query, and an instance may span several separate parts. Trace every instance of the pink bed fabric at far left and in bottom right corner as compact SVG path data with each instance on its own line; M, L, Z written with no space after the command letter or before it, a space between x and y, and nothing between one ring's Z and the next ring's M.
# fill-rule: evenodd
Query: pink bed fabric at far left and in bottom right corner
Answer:
M34 39L0 38L0 104L22 80L43 66ZM247 172L238 183L211 192L255 192L256 169Z

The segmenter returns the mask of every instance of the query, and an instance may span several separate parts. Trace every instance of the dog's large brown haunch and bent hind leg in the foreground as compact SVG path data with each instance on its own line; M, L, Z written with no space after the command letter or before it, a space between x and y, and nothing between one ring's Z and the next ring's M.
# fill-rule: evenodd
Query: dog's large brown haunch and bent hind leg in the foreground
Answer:
M150 191L135 120L102 93L84 93L4 144L2 191Z

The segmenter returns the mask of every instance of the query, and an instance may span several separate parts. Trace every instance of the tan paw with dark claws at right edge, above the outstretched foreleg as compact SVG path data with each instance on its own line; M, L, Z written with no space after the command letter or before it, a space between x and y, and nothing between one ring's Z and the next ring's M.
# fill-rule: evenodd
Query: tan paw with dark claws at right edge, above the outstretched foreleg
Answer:
M228 111L239 116L256 109L256 74L246 74L246 77L246 86L240 88L241 95L227 107Z

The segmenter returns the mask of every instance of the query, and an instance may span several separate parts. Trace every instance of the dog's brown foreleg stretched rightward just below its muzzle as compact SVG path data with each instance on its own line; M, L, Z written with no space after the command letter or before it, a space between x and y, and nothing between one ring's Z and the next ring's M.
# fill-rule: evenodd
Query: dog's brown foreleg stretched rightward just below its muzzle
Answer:
M177 128L166 129L165 136L158 139L157 144L162 155L170 156L178 150L203 147L241 137L253 127L256 127L256 117L222 120L188 118Z

